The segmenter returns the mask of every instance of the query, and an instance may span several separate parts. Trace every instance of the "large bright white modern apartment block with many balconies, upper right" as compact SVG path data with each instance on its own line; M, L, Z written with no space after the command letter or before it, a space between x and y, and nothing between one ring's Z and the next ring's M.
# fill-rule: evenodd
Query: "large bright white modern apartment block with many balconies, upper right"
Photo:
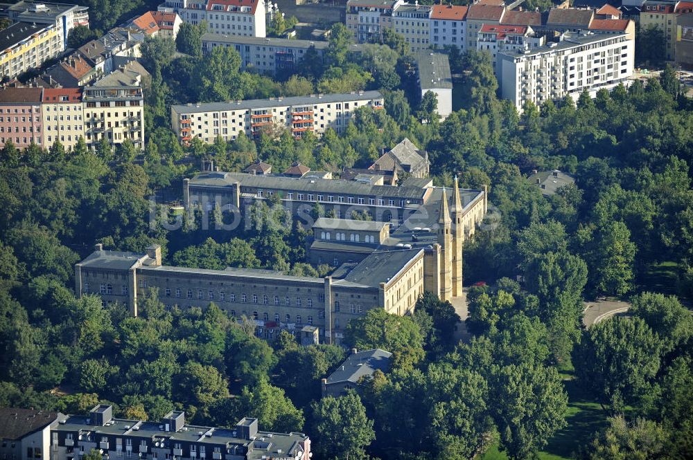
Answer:
M560 42L539 48L506 51L500 57L502 96L518 110L532 101L577 98L584 90L627 84L633 74L634 44L623 35L564 33Z

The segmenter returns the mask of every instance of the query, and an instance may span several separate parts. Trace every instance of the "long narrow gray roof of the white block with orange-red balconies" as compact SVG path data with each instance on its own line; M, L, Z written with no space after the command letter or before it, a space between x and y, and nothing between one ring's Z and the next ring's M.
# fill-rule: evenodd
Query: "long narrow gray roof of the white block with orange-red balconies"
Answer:
M292 96L291 98L249 99L238 102L201 102L198 104L172 105L171 110L175 111L176 113L202 113L229 110L264 109L265 107L326 104L331 102L352 102L357 100L373 99L383 99L383 95L380 93L380 91L361 91L354 93Z

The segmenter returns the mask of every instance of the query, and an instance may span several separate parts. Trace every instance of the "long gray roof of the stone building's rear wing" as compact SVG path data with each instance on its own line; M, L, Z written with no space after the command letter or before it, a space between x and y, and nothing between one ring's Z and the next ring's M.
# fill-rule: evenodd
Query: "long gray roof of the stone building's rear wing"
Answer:
M341 179L295 178L284 176L254 176L243 172L208 172L191 178L190 185L230 187L240 183L243 187L293 190L307 193L334 193L367 196L383 196L397 199L423 200L428 189L421 187L396 187L394 185L370 185ZM337 200L335 199L335 203ZM396 203L397 205L399 203Z

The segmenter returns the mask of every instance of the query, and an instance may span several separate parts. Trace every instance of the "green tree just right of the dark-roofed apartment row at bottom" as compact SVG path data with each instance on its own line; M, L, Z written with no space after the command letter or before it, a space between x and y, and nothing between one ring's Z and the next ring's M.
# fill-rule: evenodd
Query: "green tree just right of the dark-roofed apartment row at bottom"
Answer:
M373 421L366 416L361 398L348 392L341 398L327 396L313 403L316 450L324 458L359 459L376 437Z

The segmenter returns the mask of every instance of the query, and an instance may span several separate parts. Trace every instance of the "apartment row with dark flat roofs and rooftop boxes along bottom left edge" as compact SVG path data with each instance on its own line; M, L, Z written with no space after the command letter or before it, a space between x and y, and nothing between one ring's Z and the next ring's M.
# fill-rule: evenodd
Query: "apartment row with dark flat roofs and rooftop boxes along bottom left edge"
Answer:
M87 416L0 408L0 454L5 460L71 460L96 450L104 458L143 460L309 460L310 438L303 433L258 430L256 418L235 427L186 425L185 413L160 421L114 418L113 408L97 405Z

